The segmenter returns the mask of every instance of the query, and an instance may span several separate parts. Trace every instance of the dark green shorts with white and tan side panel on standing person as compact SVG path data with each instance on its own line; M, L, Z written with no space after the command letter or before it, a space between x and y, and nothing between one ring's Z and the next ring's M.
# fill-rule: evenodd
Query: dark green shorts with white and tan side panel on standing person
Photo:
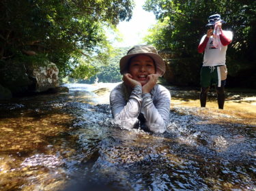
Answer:
M217 87L225 86L227 79L227 67L214 66L214 67L201 67L200 84L202 87L209 87L216 85Z

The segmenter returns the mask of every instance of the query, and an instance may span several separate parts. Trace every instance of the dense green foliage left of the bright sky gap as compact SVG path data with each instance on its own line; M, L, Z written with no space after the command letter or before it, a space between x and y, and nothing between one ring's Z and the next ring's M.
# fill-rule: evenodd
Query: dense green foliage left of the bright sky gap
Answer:
M132 6L132 0L2 0L0 60L50 60L62 75L70 73L82 55L89 61L91 54L108 53L104 26L129 20ZM84 76L91 73L87 66Z

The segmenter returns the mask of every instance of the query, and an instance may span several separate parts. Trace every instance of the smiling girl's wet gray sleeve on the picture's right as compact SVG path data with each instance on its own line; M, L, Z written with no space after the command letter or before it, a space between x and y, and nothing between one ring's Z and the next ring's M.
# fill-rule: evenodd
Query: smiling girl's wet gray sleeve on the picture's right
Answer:
M146 120L146 126L154 133L164 133L169 124L171 94L163 89L158 92L156 103L152 101L151 94L143 94L141 113Z

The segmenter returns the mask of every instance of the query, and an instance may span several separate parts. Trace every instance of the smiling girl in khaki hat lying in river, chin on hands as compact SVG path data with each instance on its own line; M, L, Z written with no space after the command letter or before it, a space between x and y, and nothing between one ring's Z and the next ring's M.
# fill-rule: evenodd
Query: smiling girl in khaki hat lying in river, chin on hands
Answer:
M110 94L115 123L121 128L164 133L169 124L171 94L156 84L165 73L164 60L154 46L137 45L128 50L119 65L124 82Z

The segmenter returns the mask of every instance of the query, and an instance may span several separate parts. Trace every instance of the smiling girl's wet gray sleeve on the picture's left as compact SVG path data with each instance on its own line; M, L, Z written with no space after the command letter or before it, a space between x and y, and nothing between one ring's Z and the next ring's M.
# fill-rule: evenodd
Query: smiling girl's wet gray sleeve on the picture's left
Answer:
M122 128L131 129L138 122L142 103L141 86L135 86L128 101L124 97L121 88L113 89L110 94L112 116Z

